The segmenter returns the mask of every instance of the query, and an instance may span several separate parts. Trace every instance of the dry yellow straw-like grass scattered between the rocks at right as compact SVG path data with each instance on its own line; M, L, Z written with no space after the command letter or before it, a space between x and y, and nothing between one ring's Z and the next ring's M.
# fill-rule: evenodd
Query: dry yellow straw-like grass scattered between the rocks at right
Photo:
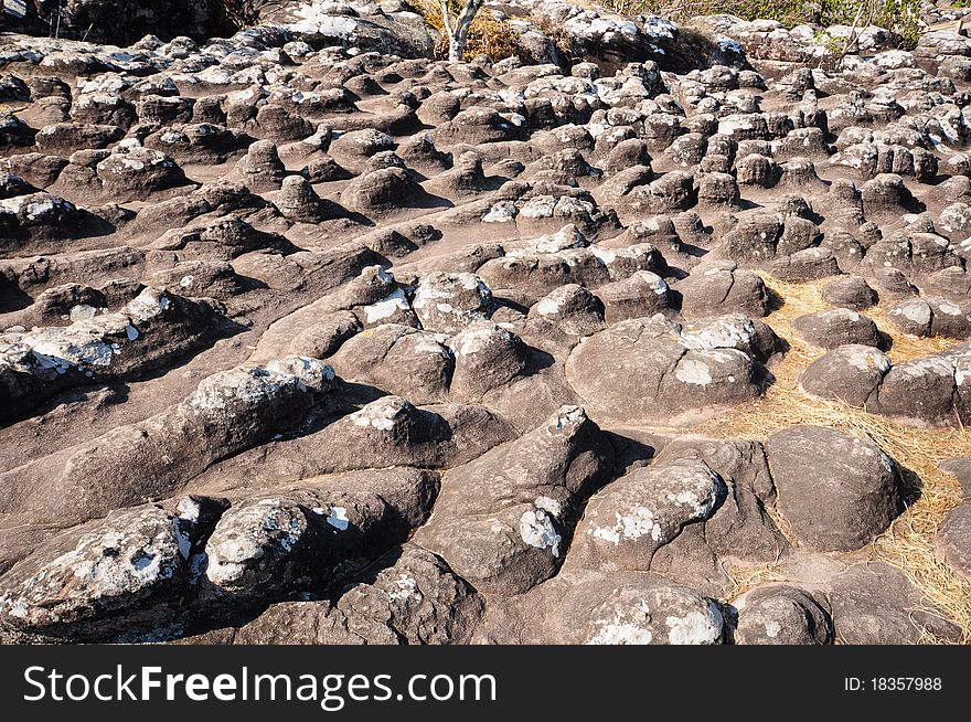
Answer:
M866 437L881 446L900 464L911 482L920 484L920 496L872 544L869 555L900 567L928 602L937 607L937 614L961 628L962 641L971 644L971 584L946 564L933 549L933 538L941 522L962 498L960 485L941 471L938 463L948 458L971 457L971 431L910 428L862 408L803 395L798 390L799 375L823 351L800 341L790 322L798 316L828 308L821 296L821 289L828 282L787 284L769 275L762 277L785 299L781 308L766 321L790 343L791 349L781 362L773 364L771 370L776 382L765 396L706 422L700 431L715 436L765 439L777 429L811 424ZM889 325L884 308L871 309L867 315L881 330L894 333L889 352L894 361L925 357L954 343L948 339L924 339L900 333ZM781 576L776 565L736 570L733 574L738 593L759 581L778 581ZM939 640L925 633L922 641Z

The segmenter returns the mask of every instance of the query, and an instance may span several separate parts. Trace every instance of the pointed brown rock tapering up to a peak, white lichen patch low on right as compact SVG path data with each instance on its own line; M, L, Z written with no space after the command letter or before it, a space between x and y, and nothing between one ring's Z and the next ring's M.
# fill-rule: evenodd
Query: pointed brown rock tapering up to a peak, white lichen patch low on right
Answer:
M581 408L449 471L416 541L486 594L520 594L553 576L584 501L613 470L613 452Z

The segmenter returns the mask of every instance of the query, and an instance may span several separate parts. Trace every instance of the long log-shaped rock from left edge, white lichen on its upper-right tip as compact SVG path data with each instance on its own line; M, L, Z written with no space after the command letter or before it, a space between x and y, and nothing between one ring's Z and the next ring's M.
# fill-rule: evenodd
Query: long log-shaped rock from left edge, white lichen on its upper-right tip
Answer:
M6 471L0 508L67 527L172 493L302 418L320 393L313 384L324 380L327 390L333 376L320 361L297 365L297 373L241 367L213 374L154 416ZM49 482L38 486L38 475Z

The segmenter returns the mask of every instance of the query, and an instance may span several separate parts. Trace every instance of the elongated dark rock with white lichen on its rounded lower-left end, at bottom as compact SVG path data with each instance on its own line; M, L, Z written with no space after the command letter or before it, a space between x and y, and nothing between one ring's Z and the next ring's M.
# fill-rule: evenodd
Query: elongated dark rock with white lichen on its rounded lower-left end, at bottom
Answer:
M199 561L201 604L329 590L404 542L428 517L438 475L413 468L303 479L244 497Z

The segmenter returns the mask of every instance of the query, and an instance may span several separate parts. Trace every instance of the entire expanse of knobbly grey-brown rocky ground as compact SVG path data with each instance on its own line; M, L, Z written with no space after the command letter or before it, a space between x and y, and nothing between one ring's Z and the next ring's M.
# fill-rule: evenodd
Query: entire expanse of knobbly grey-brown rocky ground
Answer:
M971 638L971 40L253 6L0 35L3 639Z

